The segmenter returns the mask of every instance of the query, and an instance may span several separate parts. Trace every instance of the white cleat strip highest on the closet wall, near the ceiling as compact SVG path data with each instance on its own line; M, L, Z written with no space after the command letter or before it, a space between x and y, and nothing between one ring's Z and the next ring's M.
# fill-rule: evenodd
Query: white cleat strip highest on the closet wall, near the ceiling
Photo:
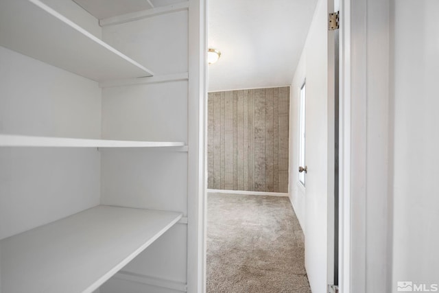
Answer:
M176 3L172 5L152 8L137 12L126 13L118 16L108 17L107 19L99 20L99 25L104 27L106 25L118 25L120 23L128 23L129 21L138 21L139 19L146 19L148 17L158 16L162 14L179 12L189 9L189 1Z

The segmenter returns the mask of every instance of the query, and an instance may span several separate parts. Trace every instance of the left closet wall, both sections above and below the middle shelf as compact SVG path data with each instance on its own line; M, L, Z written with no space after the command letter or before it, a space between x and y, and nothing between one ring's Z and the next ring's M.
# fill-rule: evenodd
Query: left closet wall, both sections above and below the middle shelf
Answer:
M97 82L0 47L0 132L100 137ZM99 204L95 149L1 148L0 239Z

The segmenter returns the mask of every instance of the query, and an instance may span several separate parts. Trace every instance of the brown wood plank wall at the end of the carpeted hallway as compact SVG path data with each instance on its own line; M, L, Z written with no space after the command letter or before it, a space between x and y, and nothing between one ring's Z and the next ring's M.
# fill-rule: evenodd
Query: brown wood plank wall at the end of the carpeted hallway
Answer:
M288 192L289 86L209 93L208 188Z

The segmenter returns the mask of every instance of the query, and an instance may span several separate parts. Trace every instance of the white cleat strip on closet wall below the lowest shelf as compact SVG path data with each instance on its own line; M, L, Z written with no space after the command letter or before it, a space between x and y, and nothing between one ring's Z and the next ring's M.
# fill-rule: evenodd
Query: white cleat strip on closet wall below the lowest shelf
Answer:
M158 277L150 277L145 274L134 274L132 272L119 271L113 278L145 285L152 285L159 288L166 288L178 292L187 292L187 285L185 283Z

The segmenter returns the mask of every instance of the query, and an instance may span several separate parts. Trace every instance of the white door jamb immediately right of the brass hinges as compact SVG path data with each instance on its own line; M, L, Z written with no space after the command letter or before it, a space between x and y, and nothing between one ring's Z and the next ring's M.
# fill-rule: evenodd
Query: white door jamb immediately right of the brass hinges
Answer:
M339 292L342 293L366 292L367 23L366 1L353 2L340 0Z

